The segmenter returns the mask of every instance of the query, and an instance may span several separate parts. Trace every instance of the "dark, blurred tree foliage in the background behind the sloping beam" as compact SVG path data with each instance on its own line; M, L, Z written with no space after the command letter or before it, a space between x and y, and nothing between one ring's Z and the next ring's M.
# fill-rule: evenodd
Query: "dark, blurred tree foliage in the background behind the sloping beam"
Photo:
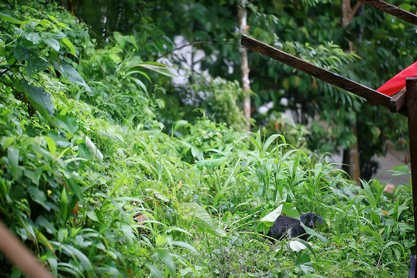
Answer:
M136 38L142 40L142 56L149 60L169 57L172 64L189 72L185 88L175 84L164 86L163 99L170 101L170 107L182 111L178 120L186 117L192 121L194 108L211 103L208 99L188 105L193 92L190 84L204 82L196 78L201 72L231 81L240 80L236 0L118 1L117 5L106 0L73 2L76 13L91 23L93 33L102 44L111 36L111 31L136 34ZM412 47L415 26L375 8L361 6L343 27L342 1L249 2L249 35L370 88L379 88L416 60L417 51ZM353 7L356 2L351 2ZM416 12L413 0L391 3ZM104 6L101 13L95 12L94 5ZM115 12L115 6L119 13ZM111 20L104 23L102 16ZM190 59L186 60L181 51L174 51L182 45L175 44L176 40L193 46ZM202 53L204 56L199 56ZM370 106L358 97L252 51L250 68L251 88L256 92L252 95L255 126L268 126L274 122L276 111L291 109L297 123L312 126L309 147L322 152L349 149L357 140L352 130L352 126L356 126L357 134L361 135L358 140L361 174L366 178L377 170L373 159L375 155L384 155L386 140L393 141L397 147L407 147L407 140L404 140L407 122L401 115ZM271 101L273 106L268 113L261 113L259 108ZM210 107L206 107L208 115L211 115ZM317 120L328 125L324 127ZM268 131L269 134L276 132Z

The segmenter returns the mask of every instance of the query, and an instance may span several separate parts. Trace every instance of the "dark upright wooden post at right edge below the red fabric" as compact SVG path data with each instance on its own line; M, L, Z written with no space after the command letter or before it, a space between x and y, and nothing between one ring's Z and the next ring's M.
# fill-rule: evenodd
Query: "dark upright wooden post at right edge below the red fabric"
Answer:
M407 77L405 81L405 103L408 111L411 186L413 190L414 236L417 251L417 76ZM411 256L409 278L416 275L416 255Z

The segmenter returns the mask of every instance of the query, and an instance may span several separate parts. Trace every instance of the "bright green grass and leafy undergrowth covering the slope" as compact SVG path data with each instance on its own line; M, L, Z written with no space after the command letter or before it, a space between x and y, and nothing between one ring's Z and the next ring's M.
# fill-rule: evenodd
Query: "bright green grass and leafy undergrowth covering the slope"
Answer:
M202 104L211 118L191 119L197 112L163 97L172 72L149 61L158 57L146 35L113 33L99 49L58 6L0 10L0 217L55 276L406 275L415 252L409 184L389 198L378 181L354 186L302 147L304 126L277 115L265 129L283 135L236 131L233 81L177 91L212 99ZM318 60L326 63L325 48ZM325 220L307 249L263 238L271 223L260 220L277 207ZM19 277L0 259L3 275Z

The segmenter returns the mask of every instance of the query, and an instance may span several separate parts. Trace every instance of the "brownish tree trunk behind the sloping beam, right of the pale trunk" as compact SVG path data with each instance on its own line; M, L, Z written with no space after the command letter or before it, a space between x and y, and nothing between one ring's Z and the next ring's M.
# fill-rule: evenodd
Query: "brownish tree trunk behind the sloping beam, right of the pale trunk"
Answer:
M349 25L350 21L354 17L355 13L357 13L359 7L362 5L361 2L357 2L356 5L352 8L350 5L350 0L341 0L342 1L342 26L345 27ZM349 41L349 49L353 51L353 43ZM351 126L354 137L356 141L350 146L349 149L343 149L343 163L347 164L343 166L343 170L345 170L349 175L352 181L356 181L359 185L361 181L361 164L359 162L359 145L357 140L357 123L356 121Z

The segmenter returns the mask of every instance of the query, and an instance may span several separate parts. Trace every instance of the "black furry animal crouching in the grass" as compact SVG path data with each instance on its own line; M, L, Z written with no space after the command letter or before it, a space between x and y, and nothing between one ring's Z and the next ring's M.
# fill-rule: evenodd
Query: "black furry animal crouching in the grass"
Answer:
M322 224L323 222L322 218L316 213L305 213L300 216L300 220L279 215L266 235L277 240L281 240L284 237L307 240L309 234L306 234L306 231L301 227L300 222L306 225L306 227L313 229L316 221L318 221L319 224Z

